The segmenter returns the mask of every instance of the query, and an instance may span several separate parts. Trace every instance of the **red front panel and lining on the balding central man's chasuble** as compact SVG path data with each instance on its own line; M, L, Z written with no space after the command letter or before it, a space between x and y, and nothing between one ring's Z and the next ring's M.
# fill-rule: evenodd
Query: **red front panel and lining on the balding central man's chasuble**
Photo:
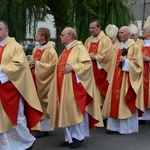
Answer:
M58 66L57 66L57 89L58 89L58 95L59 95L59 100L61 96L61 89L62 89L62 84L63 84L63 79L64 79L64 73L62 72L63 67L66 66L66 62L68 59L68 56L70 54L72 49L70 50L65 50L58 61ZM73 91L74 91L74 97L76 100L76 104L78 109L81 111L82 115L84 116L85 113L85 107L88 105L93 99L87 94L86 90L82 86L81 83L77 83L75 72L72 72L72 84L73 84ZM90 128L95 128L95 124L98 121L93 119L89 115L89 127Z

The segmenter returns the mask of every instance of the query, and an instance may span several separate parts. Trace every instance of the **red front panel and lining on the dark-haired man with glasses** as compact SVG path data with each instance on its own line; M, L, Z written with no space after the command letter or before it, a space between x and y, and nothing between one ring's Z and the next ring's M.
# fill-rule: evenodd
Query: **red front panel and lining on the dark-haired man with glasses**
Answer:
M98 52L98 42L92 42L89 48L89 53L94 53L94 55L97 55ZM107 72L104 69L98 69L96 60L92 61L93 64L93 73L96 85L98 86L98 89L100 93L103 96L106 96L107 88L108 88L108 82L106 81L107 78Z

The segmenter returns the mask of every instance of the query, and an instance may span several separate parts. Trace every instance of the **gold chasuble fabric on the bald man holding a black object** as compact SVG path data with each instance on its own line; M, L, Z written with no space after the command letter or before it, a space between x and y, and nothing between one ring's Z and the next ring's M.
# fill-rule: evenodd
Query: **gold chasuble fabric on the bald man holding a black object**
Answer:
M121 49L121 47L120 47ZM117 102L118 105L118 119L126 119L134 115L131 110L128 108L125 95L128 92L128 77L130 79L130 84L136 94L135 106L140 111L144 112L144 101L143 101L143 58L140 47L135 44L134 40L131 40L126 49L128 49L127 59L130 60L130 69L128 72L123 72L123 78L121 83L121 89L119 92L119 99ZM112 101L112 84L113 84L113 76L114 69L117 61L117 55L115 57L115 63L113 64L112 69L112 78L109 83L107 95L105 97L105 102L102 109L102 114L104 116L111 116L111 101ZM119 72L118 72L119 73ZM119 80L119 79L118 79ZM116 95L117 96L117 95Z

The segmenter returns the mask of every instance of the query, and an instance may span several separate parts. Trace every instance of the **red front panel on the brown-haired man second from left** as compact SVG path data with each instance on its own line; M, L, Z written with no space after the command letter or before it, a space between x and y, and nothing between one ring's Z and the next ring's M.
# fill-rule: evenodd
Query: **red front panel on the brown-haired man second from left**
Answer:
M40 61L43 52L44 52L43 50L37 49L36 52L35 52L34 55L33 55L33 59L36 59L36 60ZM37 85L36 85L36 77L35 77L34 71L35 71L35 68L32 68L32 69L31 69L31 73L32 73L32 77L33 77L34 84L35 84L35 86L36 86L36 88L37 88Z

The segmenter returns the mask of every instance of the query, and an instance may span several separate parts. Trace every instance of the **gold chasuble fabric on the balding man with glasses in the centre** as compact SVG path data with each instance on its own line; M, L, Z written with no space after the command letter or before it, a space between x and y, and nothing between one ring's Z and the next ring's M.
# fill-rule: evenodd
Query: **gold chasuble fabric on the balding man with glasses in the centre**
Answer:
M80 84L82 84L86 92L93 99L85 107L85 111L98 121L95 126L103 126L99 97L96 92L89 54L83 44L77 40L70 45L69 49L71 49L71 52L68 56L67 63L72 65L77 78L81 82ZM82 122L84 116L79 111L73 94L72 72L64 74L60 99L58 96L57 82L56 70L49 91L49 104L47 109L51 117L51 126L66 127Z

